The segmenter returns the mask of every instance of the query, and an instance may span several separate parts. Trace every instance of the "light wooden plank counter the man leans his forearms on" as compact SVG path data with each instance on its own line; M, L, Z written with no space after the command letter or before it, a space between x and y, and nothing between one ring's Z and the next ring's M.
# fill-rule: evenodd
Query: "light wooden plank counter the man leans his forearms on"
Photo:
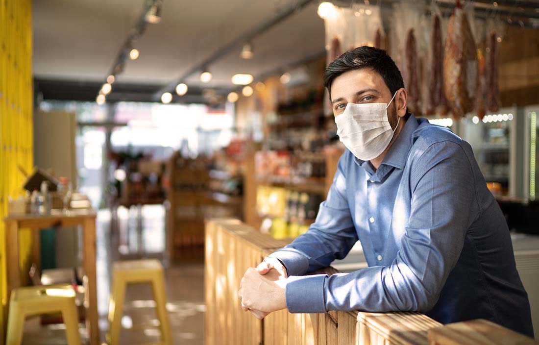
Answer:
M279 310L258 320L241 309L238 300L239 281L248 267L287 244L262 234L237 219L210 219L205 222L204 288L206 314L204 343L264 345L337 345L337 344L454 344L463 333L478 336L487 328L468 327L469 322L443 326L428 316L412 313L334 312L324 314L291 314ZM313 274L334 274L326 267ZM457 327L455 327L457 325ZM459 326L461 325L461 326ZM430 334L433 330L433 334ZM527 337L499 327L504 339L535 343ZM442 336L440 336L440 334ZM500 336L501 337L501 336Z

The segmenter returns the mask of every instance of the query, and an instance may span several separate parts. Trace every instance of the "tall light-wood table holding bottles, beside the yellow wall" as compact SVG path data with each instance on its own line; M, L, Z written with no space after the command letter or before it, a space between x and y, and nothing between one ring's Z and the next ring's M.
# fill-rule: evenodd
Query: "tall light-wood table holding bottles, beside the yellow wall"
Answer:
M83 232L83 266L85 270L88 291L85 305L87 307L86 327L91 345L99 344L98 305L95 273L95 211L94 210L53 210L50 215L10 215L4 218L6 244L6 271L8 301L11 291L21 283L19 268L19 229L30 228L33 232L34 250L32 257L39 263L39 230L53 226L82 226Z

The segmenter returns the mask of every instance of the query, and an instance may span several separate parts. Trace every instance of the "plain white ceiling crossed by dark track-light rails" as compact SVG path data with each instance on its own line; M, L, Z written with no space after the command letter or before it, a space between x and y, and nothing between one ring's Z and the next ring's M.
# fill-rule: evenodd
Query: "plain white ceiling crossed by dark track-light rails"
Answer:
M160 24L150 24L137 41L140 57L128 61L122 83L167 85L223 46L299 0L164 0ZM34 0L33 72L38 78L103 81L144 0ZM240 46L209 65L208 86L232 86L235 73L255 77L323 51L318 2L256 37L254 58ZM198 75L189 85L202 86Z

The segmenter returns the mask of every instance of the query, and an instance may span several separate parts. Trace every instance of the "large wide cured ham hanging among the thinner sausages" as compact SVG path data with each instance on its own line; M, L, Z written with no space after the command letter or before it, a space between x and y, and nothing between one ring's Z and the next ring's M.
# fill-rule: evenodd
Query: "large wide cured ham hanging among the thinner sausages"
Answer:
M444 52L444 91L455 119L474 108L478 84L477 51L459 0L449 19Z

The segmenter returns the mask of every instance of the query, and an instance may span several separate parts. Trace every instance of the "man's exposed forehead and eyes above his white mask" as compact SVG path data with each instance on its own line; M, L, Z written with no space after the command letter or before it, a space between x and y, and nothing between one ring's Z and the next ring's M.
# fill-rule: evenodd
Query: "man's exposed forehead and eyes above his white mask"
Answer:
M382 76L371 68L361 68L339 75L331 84L331 107L337 117L348 103L389 103L393 95ZM388 107L391 128L397 125L395 102Z

